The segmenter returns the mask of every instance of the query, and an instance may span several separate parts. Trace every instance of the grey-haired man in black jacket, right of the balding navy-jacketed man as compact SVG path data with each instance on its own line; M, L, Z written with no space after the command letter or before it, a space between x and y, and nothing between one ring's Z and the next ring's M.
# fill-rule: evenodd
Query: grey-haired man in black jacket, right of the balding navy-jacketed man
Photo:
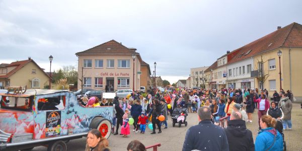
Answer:
M233 112L231 114L228 127L224 131L228 137L230 150L255 150L253 134L247 129L240 112Z

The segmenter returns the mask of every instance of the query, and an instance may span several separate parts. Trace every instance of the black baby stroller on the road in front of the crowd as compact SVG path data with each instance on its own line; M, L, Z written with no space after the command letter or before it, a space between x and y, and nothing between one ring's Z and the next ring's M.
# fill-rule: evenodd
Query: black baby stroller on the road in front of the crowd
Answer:
M187 108L175 108L172 113L172 126L174 127L176 123L178 123L178 127L181 127L181 124L185 124L185 126L187 126L187 116Z

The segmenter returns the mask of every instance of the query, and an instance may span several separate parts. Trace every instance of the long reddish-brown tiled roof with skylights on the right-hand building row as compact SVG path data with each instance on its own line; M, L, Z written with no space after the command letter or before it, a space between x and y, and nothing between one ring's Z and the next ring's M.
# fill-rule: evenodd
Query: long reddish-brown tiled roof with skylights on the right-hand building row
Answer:
M232 51L228 64L280 47L302 47L302 25L292 23Z

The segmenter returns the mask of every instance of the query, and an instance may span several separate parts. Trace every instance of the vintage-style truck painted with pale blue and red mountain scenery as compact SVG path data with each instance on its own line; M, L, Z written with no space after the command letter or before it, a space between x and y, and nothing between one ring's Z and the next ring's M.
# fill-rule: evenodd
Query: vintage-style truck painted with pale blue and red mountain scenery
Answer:
M66 142L92 128L111 134L113 106L85 107L73 92L29 89L0 93L0 150L67 150Z

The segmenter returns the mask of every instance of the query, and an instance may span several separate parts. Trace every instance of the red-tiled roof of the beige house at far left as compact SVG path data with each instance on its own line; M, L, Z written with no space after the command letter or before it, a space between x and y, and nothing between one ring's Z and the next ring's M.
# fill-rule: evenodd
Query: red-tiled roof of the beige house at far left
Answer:
M16 66L16 67L13 70L11 70L9 73L7 73L6 75L0 75L0 78L9 78L9 77L11 77L11 75L16 73L19 69L21 69L23 66L25 66L26 64L28 64L31 61L34 64L36 64L44 72L44 70L33 59L22 60L22 61L16 61L16 62L12 62L10 64L6 64L5 67L10 67L10 66ZM2 63L2 64L4 64L4 63ZM45 75L47 75L47 77L49 77L48 74L45 73Z

